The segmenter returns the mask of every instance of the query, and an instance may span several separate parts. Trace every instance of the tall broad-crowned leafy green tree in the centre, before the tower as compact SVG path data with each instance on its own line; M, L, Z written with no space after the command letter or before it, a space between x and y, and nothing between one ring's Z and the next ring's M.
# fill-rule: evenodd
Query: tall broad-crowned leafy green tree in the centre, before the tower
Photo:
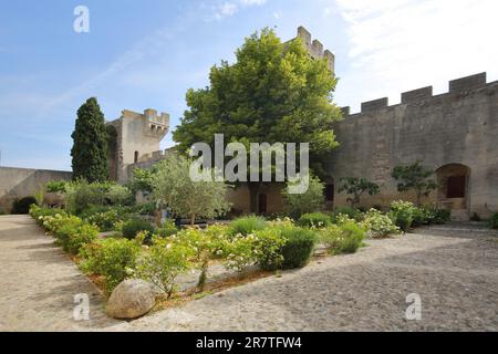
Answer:
M236 62L222 61L210 85L189 90L188 110L173 137L183 152L195 143L310 143L310 163L323 177L323 157L338 145L332 123L341 117L332 103L336 79L325 60L313 60L300 39L283 44L270 29L246 39ZM248 159L249 160L249 159ZM256 210L260 183L248 183Z

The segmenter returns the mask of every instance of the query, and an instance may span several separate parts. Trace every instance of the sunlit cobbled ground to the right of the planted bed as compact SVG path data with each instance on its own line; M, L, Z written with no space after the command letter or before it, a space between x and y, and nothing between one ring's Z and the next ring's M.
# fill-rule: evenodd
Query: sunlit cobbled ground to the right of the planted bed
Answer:
M370 240L356 254L324 258L111 330L497 331L496 236L432 233L440 235ZM422 298L421 321L405 317L411 293Z

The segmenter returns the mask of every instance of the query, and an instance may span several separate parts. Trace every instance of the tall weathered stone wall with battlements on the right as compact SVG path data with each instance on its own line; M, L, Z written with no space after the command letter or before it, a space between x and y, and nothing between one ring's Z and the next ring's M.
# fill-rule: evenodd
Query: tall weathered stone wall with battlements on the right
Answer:
M452 81L445 94L424 87L403 93L401 104L381 98L363 103L356 114L344 107L343 114L334 127L341 146L329 162L335 207L346 205L338 192L342 177L366 177L381 186L382 197L365 196L364 206L413 199L397 192L391 174L419 159L434 170L467 166L468 211L498 211L498 82L486 83L486 73ZM427 201L436 202L437 192Z

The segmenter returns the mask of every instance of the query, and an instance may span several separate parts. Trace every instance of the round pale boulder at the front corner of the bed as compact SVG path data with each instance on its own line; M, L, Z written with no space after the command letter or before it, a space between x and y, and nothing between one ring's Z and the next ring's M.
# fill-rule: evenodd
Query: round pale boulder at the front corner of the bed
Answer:
M107 315L120 320L143 316L154 306L156 294L155 287L144 280L125 280L114 289L108 298Z

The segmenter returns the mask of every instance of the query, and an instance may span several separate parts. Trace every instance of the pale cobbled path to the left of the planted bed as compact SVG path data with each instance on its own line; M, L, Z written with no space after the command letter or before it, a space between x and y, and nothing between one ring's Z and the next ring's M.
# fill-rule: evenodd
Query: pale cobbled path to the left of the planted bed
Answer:
M90 298L91 321L73 319L74 295ZM102 296L28 216L0 217L0 331L87 331L108 319Z

